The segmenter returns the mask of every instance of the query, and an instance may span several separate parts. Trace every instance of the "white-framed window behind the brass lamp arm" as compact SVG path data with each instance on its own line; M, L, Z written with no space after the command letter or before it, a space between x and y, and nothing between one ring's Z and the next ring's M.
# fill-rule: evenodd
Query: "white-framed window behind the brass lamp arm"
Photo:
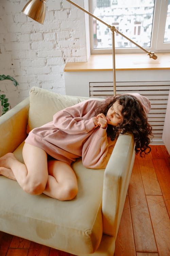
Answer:
M89 0L89 11L148 51L170 51L170 0ZM90 17L91 53L112 52L110 28ZM141 52L115 33L116 52Z

